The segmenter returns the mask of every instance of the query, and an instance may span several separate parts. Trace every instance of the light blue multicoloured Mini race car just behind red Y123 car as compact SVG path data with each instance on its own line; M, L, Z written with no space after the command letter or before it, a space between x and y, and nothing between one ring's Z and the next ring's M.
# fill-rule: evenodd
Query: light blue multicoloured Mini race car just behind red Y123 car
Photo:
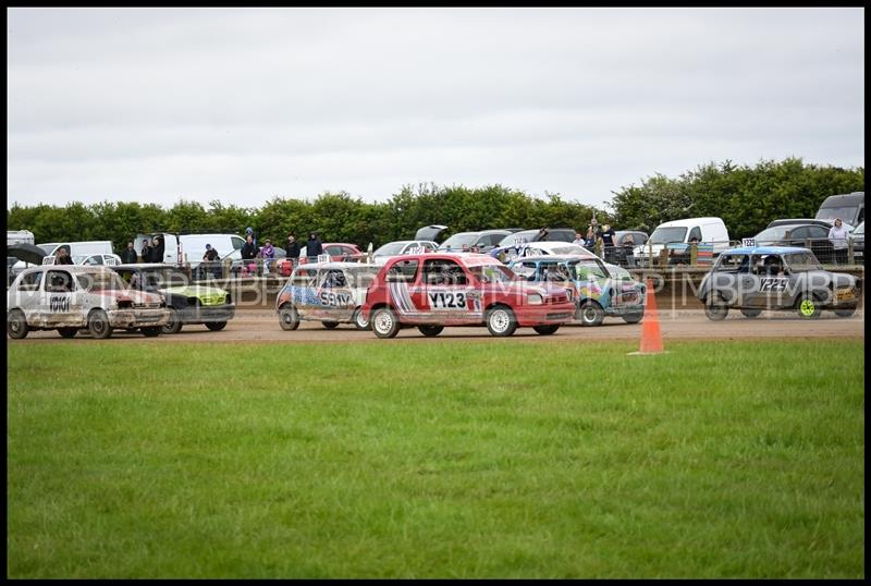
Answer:
M645 317L646 288L616 265L597 257L531 256L508 264L518 277L571 288L582 326L601 326L605 316L638 323Z

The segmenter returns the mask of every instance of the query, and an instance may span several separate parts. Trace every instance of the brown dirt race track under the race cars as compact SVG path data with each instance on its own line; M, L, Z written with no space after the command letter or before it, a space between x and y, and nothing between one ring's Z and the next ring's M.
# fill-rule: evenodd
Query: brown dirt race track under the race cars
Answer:
M790 313L768 312L756 319L747 319L738 312L729 313L720 322L710 321L701 310L660 310L660 328L664 341L668 340L744 340L744 339L821 339L852 338L864 340L864 314L857 312L850 318L838 318L831 312L824 312L815 320L806 321ZM531 328L520 328L513 335L518 340L547 340L553 342L589 341L589 340L639 340L641 325L628 325L622 319L606 318L598 328L564 326L555 334L542 337ZM25 340L8 340L8 343L74 343L76 339L88 339L86 332L79 332L73 340L60 338L56 331L30 332ZM431 342L416 328L401 330L398 340ZM490 340L487 328L447 328L438 339L453 340ZM303 322L296 331L284 331L279 326L278 317L269 309L242 309L235 319L220 332L211 332L205 326L185 326L174 335L145 338L140 333L115 331L112 341L118 343L167 342L379 342L372 332L357 331L353 326L343 323L334 330L324 329L319 322Z

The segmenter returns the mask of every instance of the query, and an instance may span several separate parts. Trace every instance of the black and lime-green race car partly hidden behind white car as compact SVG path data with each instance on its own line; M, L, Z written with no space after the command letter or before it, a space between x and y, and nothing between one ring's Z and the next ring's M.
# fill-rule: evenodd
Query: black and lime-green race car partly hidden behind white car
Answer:
M229 292L218 286L193 283L171 265L148 263L111 267L131 289L161 295L169 309L163 333L179 333L183 326L204 323L219 331L233 319L236 306Z

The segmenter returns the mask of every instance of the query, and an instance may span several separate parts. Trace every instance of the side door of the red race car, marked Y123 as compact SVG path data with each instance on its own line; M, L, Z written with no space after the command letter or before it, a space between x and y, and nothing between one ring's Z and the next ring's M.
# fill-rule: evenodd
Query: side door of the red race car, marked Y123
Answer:
M412 301L422 317L438 323L474 323L474 281L466 268L450 258L426 259L412 290Z

